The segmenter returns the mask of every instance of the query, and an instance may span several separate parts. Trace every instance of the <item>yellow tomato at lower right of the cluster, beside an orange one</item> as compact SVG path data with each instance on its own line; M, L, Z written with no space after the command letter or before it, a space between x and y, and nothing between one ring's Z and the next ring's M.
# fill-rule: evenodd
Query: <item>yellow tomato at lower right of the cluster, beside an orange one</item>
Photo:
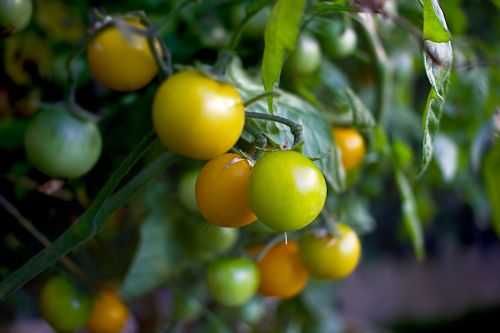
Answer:
M311 276L342 279L356 268L361 256L361 242L349 226L337 224L338 236L322 230L300 237L300 258Z

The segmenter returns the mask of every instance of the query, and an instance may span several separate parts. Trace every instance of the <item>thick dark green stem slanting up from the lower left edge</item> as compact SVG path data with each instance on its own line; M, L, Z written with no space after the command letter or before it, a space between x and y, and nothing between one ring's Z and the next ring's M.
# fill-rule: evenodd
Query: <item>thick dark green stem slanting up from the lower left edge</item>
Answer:
M66 255L97 232L96 217L105 201L111 196L121 180L128 174L130 169L144 156L151 145L155 142L156 135L151 132L120 164L118 169L111 175L108 182L96 196L88 209L71 225L58 239L49 247L40 251L19 269L7 276L0 282L0 300L22 287L32 278L53 265L60 257ZM109 211L108 211L109 212ZM104 214L99 214L104 218Z

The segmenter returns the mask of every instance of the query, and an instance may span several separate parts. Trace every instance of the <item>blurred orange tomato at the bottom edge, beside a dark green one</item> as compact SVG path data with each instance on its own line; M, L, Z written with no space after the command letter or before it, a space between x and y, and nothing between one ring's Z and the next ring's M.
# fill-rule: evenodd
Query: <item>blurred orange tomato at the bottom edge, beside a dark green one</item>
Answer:
M94 310L87 323L90 333L119 333L128 319L128 308L113 291L101 290L94 298Z

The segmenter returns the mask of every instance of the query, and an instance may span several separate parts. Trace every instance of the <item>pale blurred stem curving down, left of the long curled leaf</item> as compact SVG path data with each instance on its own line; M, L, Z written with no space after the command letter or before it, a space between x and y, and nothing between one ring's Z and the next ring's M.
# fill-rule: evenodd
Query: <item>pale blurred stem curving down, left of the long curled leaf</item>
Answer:
M392 80L389 59L382 42L377 35L373 16L355 16L360 32L367 42L368 52L375 63L377 74L377 95L375 104L375 119L382 127L387 120L387 111L392 96Z

